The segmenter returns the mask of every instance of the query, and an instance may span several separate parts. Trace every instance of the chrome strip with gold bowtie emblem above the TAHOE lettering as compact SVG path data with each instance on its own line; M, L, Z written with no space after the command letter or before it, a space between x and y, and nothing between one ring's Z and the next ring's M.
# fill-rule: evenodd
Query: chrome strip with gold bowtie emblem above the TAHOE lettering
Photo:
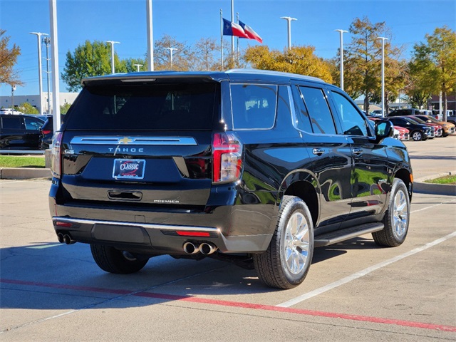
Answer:
M128 137L93 135L74 137L71 145L198 145L192 137Z

